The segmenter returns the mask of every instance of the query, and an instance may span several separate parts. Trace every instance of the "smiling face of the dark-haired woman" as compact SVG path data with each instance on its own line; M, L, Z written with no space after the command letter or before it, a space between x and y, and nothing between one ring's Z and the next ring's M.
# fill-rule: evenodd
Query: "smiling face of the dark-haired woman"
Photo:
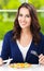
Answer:
M18 23L21 28L27 28L31 24L31 16L27 8L20 8Z

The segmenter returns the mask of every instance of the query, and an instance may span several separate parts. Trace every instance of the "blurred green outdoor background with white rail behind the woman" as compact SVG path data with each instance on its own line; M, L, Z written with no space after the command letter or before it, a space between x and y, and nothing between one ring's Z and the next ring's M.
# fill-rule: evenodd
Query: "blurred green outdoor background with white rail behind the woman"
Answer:
M35 7L41 32L44 34L44 0L0 0L0 42L13 28L17 9L23 2L30 2Z

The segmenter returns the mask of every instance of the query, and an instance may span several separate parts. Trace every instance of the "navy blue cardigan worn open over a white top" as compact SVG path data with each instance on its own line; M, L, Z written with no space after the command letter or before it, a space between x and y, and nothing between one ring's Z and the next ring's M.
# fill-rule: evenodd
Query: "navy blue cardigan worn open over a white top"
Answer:
M31 50L35 50L38 55L44 55L44 35L40 33L41 42L38 45L34 45L33 40L30 45L30 48L27 52L26 59L24 60L23 55L16 44L12 40L12 31L5 34L2 45L1 58L9 59L13 58L12 63L14 62L28 62L28 63L39 63L39 58L31 54Z

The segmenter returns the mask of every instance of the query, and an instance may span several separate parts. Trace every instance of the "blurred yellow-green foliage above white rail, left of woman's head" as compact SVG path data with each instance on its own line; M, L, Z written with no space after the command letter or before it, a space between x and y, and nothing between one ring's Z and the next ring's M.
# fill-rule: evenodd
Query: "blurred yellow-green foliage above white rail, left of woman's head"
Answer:
M20 3L19 0L1 0L0 9L17 9Z

